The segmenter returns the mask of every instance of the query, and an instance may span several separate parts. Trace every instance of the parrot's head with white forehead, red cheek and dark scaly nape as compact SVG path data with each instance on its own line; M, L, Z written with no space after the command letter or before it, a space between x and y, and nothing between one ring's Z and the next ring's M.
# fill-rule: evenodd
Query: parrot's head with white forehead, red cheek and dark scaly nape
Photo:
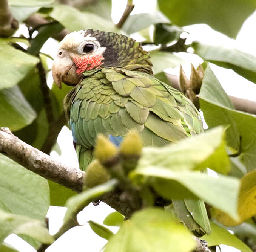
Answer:
M52 66L52 76L61 83L76 86L83 75L103 67L140 70L153 75L148 52L139 42L114 32L91 29L71 32L60 42Z

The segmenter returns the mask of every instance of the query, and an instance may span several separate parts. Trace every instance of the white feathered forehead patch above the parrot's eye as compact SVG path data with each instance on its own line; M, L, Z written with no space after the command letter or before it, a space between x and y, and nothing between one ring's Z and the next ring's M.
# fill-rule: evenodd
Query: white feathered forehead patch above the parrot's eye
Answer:
M62 49L72 49L77 48L83 41L93 41L97 46L100 47L99 42L96 38L91 37L91 34L88 34L85 37L86 30L80 30L77 32L71 32L60 41L59 48Z

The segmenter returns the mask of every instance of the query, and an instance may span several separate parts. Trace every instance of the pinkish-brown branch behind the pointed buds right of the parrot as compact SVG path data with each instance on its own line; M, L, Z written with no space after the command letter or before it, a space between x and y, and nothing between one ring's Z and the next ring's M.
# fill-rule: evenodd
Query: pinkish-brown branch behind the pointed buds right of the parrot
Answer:
M171 86L174 87L175 89L180 90L178 77L170 73L165 73L165 75L167 79L170 81ZM256 114L255 101L238 98L231 95L229 95L228 97L230 98L231 102L234 104L234 107L236 108L236 110L244 111L251 114Z

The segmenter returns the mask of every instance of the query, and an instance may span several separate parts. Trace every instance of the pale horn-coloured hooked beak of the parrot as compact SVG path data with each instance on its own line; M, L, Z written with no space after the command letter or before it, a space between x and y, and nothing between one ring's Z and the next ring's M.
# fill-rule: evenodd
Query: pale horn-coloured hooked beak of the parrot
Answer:
M52 66L52 77L60 89L62 89L61 82L69 86L76 86L80 80L76 73L76 65L65 49L60 49L57 53Z

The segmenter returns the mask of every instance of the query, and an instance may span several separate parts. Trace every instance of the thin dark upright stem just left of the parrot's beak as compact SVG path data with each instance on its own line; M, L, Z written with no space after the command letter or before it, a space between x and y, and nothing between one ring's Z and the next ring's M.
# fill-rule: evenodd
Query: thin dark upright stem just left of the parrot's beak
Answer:
M43 93L43 102L45 104L46 118L49 125L51 125L54 123L54 115L52 110L52 102L51 102L49 87L47 86L47 81L46 81L46 73L45 73L45 69L43 68L41 60L39 61L39 63L37 63L37 69L39 72L39 78L41 82L40 88Z

